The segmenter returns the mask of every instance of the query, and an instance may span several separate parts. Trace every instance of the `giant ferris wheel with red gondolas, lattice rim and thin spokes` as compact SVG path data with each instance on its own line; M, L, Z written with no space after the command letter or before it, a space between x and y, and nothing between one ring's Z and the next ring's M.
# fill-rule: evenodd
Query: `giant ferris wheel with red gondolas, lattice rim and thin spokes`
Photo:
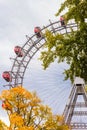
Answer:
M37 54L39 55L40 50L43 50L43 46L46 42L46 37L44 36L44 33L46 31L46 29L50 30L54 35L59 33L59 34L66 34L66 33L70 33L71 30L73 29L74 31L78 29L78 26L75 22L69 22L67 23L67 25L65 25L64 20L60 19L59 21L56 22L51 22L49 20L49 24L47 26L44 27L39 27L36 26L34 28L34 34L29 37L26 35L26 42L23 44L23 46L15 46L14 47L14 53L16 54L15 58L13 59L13 64L11 67L10 71L4 71L2 74L2 77L5 79L5 81L7 82L6 85L4 86L8 86L9 88L11 87L16 87L16 86L25 86L25 74L28 71L28 68L30 67L30 64L32 64L32 61L34 61L37 57ZM36 57L35 57L36 56ZM34 59L34 60L33 60ZM36 65L36 62L33 63L34 65ZM56 63L55 63L56 64ZM45 97L46 101L50 102L50 104L53 106L55 106L55 104L57 104L59 102L59 104L61 104L61 100L59 97L61 97L61 99L64 101L65 97L68 98L68 95L64 95L64 92L61 93L61 91L70 91L70 88L66 89L66 87L63 85L62 89L61 89L61 81L58 79L54 79L53 80L53 74L55 73L56 76L60 76L61 79L63 80L63 75L57 73L57 69L60 69L61 67L63 69L65 69L63 64L60 64L59 66L55 67L55 64L53 65L55 72L51 71L52 68L49 68L48 70L45 70L45 81L44 78L40 76L40 72L43 71L41 70L41 68L39 68L38 71L38 75L35 75L36 77L33 77L33 81L38 82L38 86L40 87L36 87L34 88L34 90L36 90L36 92L38 91L39 95L40 93L43 93L43 98ZM29 74L32 73L32 69L29 68ZM37 73L36 71L36 73ZM61 70L62 71L62 70ZM51 74L50 74L51 73ZM31 76L31 75L29 75ZM32 75L33 76L33 75ZM30 80L30 77L28 77ZM47 84L46 80L48 81L48 79L50 84ZM41 82L43 81L43 82ZM55 84L53 84L55 81ZM30 82L29 81L29 86L30 86ZM58 85L58 83L60 84L59 87L56 88L56 86ZM43 86L44 84L44 86ZM55 86L55 87L54 87ZM67 86L67 83L66 83ZM48 90L48 92L47 92ZM59 91L59 96L58 96L58 92ZM54 93L54 94L53 94ZM51 96L50 96L51 95ZM56 95L57 99L54 98L54 95ZM49 98L48 98L49 97ZM58 99L59 98L59 99ZM53 100L52 100L53 99ZM65 102L65 101L64 101ZM65 106L65 104L64 104ZM59 107L59 106L57 106ZM55 110L57 111L57 110Z

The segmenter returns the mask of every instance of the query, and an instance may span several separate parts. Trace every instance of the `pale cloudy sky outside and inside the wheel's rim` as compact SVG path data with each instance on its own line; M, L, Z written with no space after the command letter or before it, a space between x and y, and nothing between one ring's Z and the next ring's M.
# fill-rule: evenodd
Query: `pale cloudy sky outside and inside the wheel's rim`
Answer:
M14 46L24 45L26 40L25 35L31 37L35 26L46 26L49 24L49 19L57 21L58 17L55 17L55 13L63 1L0 0L1 91L5 89L3 85L6 84L4 79L2 79L2 72L11 70L12 61L9 58L15 56L13 51ZM59 65L54 63L44 72L37 61L36 55L30 63L24 80L24 87L29 90L35 90L43 102L52 107L54 113L60 113L60 105L65 105L65 100L70 91L69 81L63 81L64 76L62 72L65 68L66 65L63 63ZM61 104L61 102L64 103ZM0 119L7 123L7 117L5 116L6 112L0 108Z

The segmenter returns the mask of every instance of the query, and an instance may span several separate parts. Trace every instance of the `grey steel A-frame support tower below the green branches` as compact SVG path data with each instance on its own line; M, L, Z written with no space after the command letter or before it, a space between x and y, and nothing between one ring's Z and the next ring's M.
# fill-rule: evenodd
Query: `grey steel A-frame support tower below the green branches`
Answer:
M87 94L84 86L84 80L76 77L63 113L64 123L68 124L73 130L87 129ZM77 101L79 96L80 100ZM83 97L83 101L81 97ZM74 116L86 117L86 121L79 122L79 120L77 120L77 122L72 122L72 117Z

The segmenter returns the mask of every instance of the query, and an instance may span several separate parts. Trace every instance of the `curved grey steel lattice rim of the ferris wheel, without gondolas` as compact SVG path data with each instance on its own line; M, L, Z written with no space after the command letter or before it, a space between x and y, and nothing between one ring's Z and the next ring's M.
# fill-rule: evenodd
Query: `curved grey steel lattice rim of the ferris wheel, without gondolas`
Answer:
M66 34L71 32L71 28L73 30L77 30L77 24L76 23L69 23L67 24L66 28L62 27L60 25L60 21L57 22L51 22L50 24L43 27L41 29L42 34L44 34L45 30L48 29L52 33L56 34ZM32 57L40 50L40 48L44 45L46 42L46 39L44 36L41 38L36 38L36 34L32 35L31 37L27 36L26 43L21 47L22 51L24 53L23 57L16 56L13 58L13 65L11 68L11 76L12 76L12 82L8 84L10 87L16 87L18 85L23 85L23 79L26 72L26 68L31 61Z

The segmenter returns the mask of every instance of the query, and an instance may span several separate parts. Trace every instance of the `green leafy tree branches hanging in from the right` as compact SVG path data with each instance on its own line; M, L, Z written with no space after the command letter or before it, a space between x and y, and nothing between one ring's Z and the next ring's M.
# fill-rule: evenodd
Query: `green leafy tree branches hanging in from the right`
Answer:
M43 61L44 69L56 59L58 63L66 62L69 69L64 71L65 79L70 78L73 82L75 76L80 76L87 81L87 0L65 0L56 13L59 16L63 10L66 24L74 19L78 30L71 33L52 34L46 30L45 51L42 51L40 60Z

